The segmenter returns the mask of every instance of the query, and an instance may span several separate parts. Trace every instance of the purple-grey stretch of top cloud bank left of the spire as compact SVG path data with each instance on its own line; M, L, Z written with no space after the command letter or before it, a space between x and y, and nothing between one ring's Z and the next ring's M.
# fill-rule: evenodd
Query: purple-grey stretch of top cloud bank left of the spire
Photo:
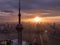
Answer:
M0 10L17 9L17 0L0 0Z

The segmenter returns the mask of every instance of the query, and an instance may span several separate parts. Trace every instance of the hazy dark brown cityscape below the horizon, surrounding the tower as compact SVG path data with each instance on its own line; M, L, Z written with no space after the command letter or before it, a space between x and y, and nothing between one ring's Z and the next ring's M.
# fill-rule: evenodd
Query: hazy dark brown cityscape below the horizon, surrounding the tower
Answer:
M0 24L0 45L18 44L16 24ZM22 45L60 45L60 23L22 24Z

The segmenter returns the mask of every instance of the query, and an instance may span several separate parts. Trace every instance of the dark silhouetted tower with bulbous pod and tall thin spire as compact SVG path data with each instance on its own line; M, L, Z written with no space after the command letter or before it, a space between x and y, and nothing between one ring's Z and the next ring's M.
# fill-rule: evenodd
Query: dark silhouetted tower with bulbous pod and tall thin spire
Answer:
M18 45L22 45L22 30L23 30L23 26L21 24L20 0L19 0L18 24L16 26L16 30L17 30L17 33L18 33Z

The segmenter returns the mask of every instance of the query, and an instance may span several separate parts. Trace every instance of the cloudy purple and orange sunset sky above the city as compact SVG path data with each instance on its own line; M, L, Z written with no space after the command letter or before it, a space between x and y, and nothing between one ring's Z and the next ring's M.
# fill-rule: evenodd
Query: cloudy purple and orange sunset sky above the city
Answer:
M60 21L60 0L20 0L23 19L35 16ZM18 0L0 0L0 22L17 21Z

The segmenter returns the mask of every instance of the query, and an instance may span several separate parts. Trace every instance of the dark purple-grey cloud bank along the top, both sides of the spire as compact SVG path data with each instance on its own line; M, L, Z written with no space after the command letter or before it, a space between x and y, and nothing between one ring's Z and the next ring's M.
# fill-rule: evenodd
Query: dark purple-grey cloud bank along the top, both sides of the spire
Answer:
M60 8L60 0L20 0L21 9ZM0 0L0 10L18 9L18 0Z

